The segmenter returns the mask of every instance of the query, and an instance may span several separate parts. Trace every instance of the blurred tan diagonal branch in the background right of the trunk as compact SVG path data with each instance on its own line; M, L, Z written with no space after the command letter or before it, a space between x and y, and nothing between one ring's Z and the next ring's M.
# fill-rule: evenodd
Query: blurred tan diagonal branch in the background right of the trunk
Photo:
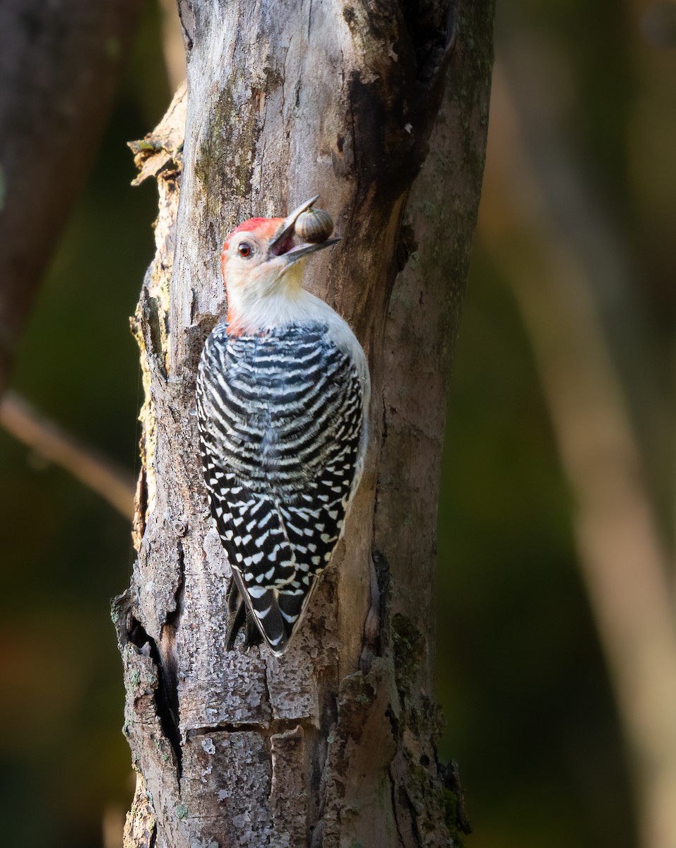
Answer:
M529 158L534 140L501 64L494 71L491 121L500 142L489 159L480 237L518 303L572 491L579 561L634 759L641 845L676 845L672 563L597 319L594 267L550 209ZM607 243L594 249L601 229L586 229L587 248L607 256Z

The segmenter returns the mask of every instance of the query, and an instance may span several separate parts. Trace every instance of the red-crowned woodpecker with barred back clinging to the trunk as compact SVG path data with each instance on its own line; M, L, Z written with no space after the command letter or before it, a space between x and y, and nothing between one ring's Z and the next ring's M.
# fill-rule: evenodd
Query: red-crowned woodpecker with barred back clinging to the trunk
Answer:
M245 619L247 646L285 650L363 471L366 357L346 321L302 288L308 256L339 241L295 243L317 199L230 233L227 319L197 373L202 471L232 568L229 650Z

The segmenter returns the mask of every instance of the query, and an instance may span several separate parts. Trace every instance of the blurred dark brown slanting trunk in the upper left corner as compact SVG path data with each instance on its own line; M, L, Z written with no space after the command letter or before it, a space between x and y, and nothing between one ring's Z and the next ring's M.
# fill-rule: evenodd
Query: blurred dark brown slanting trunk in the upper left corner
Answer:
M137 0L0 5L0 394L97 149Z

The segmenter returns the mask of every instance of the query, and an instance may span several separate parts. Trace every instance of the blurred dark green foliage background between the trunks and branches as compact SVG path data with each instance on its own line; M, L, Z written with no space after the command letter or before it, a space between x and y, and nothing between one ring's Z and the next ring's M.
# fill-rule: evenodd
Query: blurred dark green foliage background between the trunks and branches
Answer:
M657 96L636 58L636 9L611 0L521 0L504 3L501 15L566 59L570 141L640 267L644 285L635 294L659 360L673 332L664 317L665 305L673 306L673 252L664 237L663 182L632 158L636 110ZM140 388L128 317L152 257L156 206L151 185L130 188L125 142L151 129L168 103L151 4L14 375L14 388L42 412L129 468ZM644 143L651 138L646 131ZM673 169L673 157L667 164ZM656 155L654 167L663 170L664 158ZM676 181L671 171L662 179ZM666 365L658 377L671 388ZM629 848L629 778L576 565L570 499L518 312L495 258L480 249L446 441L441 755L459 762L475 830L468 845ZM5 432L0 464L0 781L3 809L11 811L3 840L24 848L102 845L105 810L119 815L132 789L108 621L108 600L128 583L129 526ZM655 485L663 485L659 471Z

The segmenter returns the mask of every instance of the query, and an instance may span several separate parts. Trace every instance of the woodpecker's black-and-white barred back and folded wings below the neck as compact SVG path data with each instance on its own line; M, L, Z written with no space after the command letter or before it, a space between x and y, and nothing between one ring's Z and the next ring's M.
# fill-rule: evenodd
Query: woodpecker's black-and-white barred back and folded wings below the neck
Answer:
M235 578L229 605L243 593L277 653L340 538L362 461L363 400L357 365L323 324L239 337L221 324L202 352L197 421Z

